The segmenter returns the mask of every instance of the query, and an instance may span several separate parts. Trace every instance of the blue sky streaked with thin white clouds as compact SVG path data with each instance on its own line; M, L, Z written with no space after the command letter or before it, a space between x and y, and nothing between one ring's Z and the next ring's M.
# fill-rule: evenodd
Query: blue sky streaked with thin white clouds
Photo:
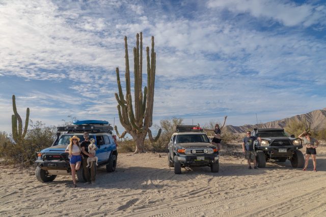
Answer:
M24 120L119 122L135 35L155 38L154 125L241 126L326 107L326 1L0 1L0 131ZM143 60L143 88L146 58ZM130 61L133 80L133 61ZM131 86L131 88L133 88ZM257 119L256 119L257 114Z

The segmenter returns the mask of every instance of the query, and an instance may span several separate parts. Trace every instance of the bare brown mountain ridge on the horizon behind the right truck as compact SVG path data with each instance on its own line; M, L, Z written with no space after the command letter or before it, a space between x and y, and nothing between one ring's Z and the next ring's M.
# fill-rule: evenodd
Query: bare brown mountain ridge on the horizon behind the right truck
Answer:
M307 114L295 115L293 117L284 118L282 120L274 120L266 123L259 123L258 125L243 125L232 126L227 125L227 132L231 133L245 133L247 130L253 130L254 128L284 128L290 120L304 121L311 123L311 129L321 130L326 128L326 108L321 110L314 110Z

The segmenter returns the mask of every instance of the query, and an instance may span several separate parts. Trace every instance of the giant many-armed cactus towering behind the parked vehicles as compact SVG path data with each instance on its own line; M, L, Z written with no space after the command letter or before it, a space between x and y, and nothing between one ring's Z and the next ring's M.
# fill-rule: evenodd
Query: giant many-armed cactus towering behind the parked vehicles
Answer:
M126 64L126 98L124 98L119 68L116 69L117 83L119 94L115 94L118 102L118 112L121 125L125 131L120 135L117 126L115 130L119 138L123 138L127 133L132 136L136 143L134 153L144 152L144 140L148 133L151 142L155 142L161 133L159 129L155 139L152 137L152 132L149 129L152 126L153 103L154 103L154 84L155 84L155 67L156 53L154 52L154 37L152 36L152 48L149 54L149 47L146 47L147 55L147 86L142 91L143 82L143 35L136 35L136 47L133 48L133 66L134 66L134 111L132 107L132 98L130 90L130 72L129 72L129 57L127 37L124 37L125 46L125 64Z

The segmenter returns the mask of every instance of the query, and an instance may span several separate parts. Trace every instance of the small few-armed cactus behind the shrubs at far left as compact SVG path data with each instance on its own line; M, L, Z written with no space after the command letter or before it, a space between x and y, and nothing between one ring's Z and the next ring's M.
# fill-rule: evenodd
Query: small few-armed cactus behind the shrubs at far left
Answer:
M29 126L30 108L26 109L26 120L25 120L24 131L22 131L21 117L17 112L15 95L12 95L12 108L14 110L14 114L11 115L12 137L14 141L17 143L20 142L22 139L24 139L27 133L27 128ZM17 122L18 122L18 126L17 126Z

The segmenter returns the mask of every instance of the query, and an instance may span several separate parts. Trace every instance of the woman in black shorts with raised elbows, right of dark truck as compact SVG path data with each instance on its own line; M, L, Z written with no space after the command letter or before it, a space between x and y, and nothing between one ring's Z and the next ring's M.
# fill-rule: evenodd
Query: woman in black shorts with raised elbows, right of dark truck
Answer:
M303 138L304 136L304 138ZM319 142L315 138L310 137L311 134L304 131L298 137L303 140L303 144L306 145L306 162L303 171L307 170L309 158L311 156L312 162L314 164L314 171L317 172L317 161L316 161L316 148L319 145Z

